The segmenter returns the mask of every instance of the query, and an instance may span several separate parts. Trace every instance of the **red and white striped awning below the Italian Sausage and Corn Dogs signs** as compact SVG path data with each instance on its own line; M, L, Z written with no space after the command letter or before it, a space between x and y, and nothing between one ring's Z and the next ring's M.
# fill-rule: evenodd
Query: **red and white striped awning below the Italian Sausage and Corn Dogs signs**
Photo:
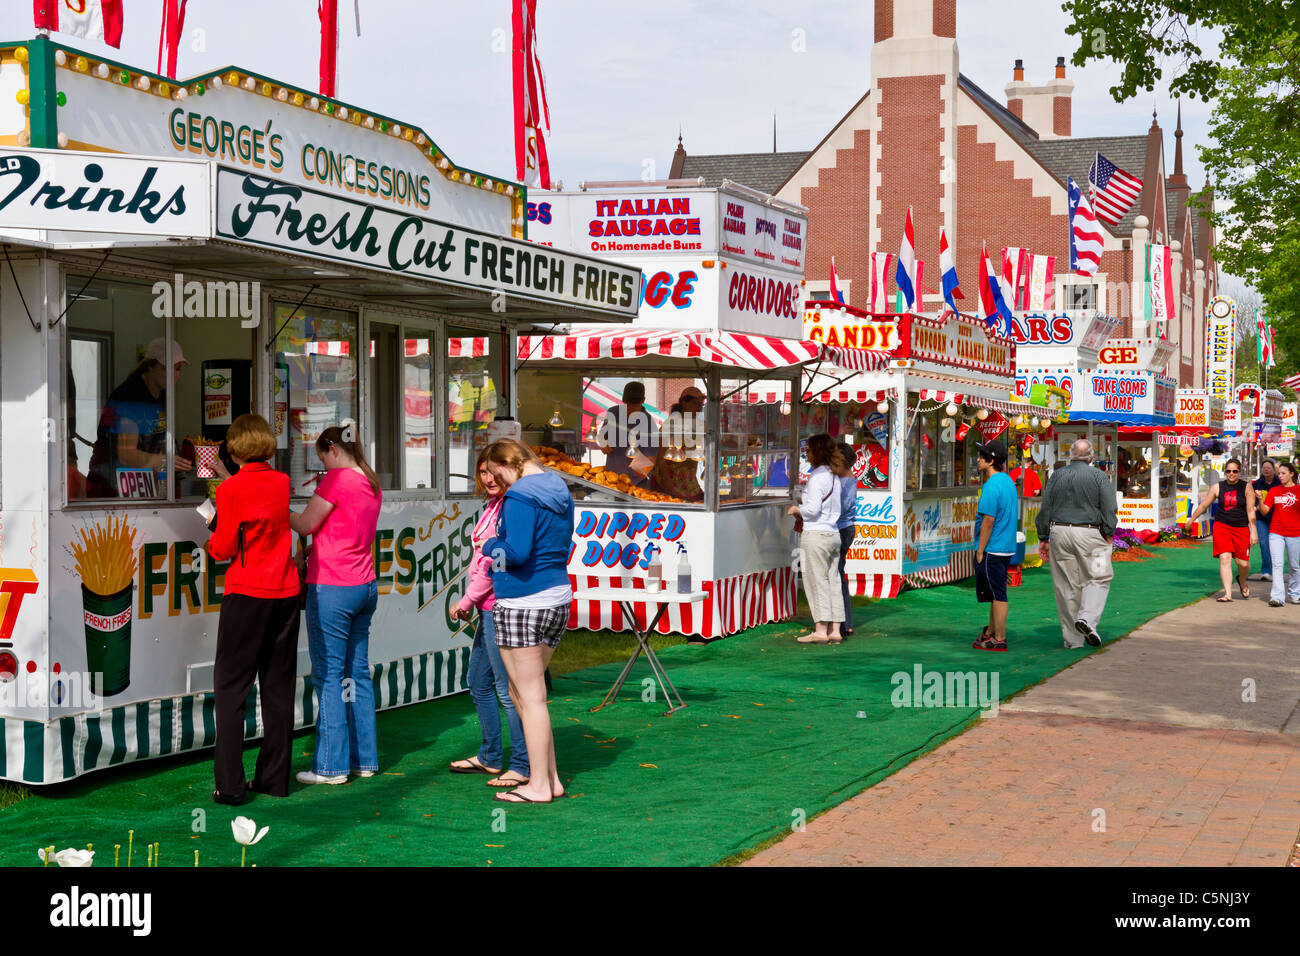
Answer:
M824 362L854 372L874 372L889 363L889 352L836 349L797 338L741 332L680 329L582 330L569 336L520 336L519 360L568 362L629 359L694 359L751 372Z

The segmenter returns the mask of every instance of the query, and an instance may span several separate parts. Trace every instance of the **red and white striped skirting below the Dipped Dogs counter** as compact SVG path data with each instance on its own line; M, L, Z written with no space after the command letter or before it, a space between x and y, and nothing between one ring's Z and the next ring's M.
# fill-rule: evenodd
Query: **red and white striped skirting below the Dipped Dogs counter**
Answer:
M580 587L607 588L607 578L569 575L573 589ZM616 584L614 587L618 587ZM786 620L794 617L797 594L794 572L788 567L754 571L718 581L703 581L699 589L708 594L698 605L670 605L655 628L659 633L696 635L699 637L727 637L758 624ZM633 579L632 593L645 591L644 579ZM632 601L637 627L645 627L654 610L645 601ZM627 631L623 605L614 601L573 601L569 607L569 630Z

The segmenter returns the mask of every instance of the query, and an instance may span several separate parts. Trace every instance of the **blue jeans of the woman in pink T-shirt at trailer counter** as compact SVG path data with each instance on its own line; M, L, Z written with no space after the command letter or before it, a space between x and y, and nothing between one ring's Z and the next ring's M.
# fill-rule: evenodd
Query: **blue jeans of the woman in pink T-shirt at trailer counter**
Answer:
M321 777L380 769L369 661L378 597L377 581L307 585L307 646L317 708L312 770Z

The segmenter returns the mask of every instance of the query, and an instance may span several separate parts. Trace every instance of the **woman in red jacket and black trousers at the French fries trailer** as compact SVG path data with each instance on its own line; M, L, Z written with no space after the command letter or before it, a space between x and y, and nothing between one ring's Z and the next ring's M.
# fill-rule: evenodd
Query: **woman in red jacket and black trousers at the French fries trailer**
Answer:
M217 623L213 691L218 804L243 803L248 790L289 796L298 663L298 568L289 529L289 476L273 471L276 436L260 415L240 415L226 433L239 471L217 485L208 554L229 561ZM244 706L260 687L263 743L252 784L244 780Z

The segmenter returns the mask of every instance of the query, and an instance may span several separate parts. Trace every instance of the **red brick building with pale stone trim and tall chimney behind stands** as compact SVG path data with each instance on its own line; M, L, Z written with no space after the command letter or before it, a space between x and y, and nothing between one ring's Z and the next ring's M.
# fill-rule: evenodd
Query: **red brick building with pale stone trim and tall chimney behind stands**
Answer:
M957 0L875 0L871 88L820 143L807 152L692 156L679 138L670 176L702 176L708 185L731 178L809 207L810 294L828 289L833 255L840 287L859 307L870 299L870 254L898 251L909 206L916 258L926 261L922 311L944 308L942 226L967 302L978 300L982 242L994 268L1004 246L1027 247L1057 258L1058 310L1119 315L1117 336L1147 338L1154 333L1143 317L1145 243L1170 245L1178 320L1167 328L1167 372L1180 385L1202 385L1205 304L1218 293L1218 267L1213 229L1190 202L1180 113L1169 173L1154 116L1145 131L1074 138L1065 57L1043 85L1026 81L1022 64L998 101L959 70ZM1132 116L1117 105L1114 125L1139 125ZM1101 269L1084 277L1069 272L1066 178L1087 189L1097 152L1140 177L1143 191L1118 225L1102 224ZM1213 199L1208 185L1205 194Z

